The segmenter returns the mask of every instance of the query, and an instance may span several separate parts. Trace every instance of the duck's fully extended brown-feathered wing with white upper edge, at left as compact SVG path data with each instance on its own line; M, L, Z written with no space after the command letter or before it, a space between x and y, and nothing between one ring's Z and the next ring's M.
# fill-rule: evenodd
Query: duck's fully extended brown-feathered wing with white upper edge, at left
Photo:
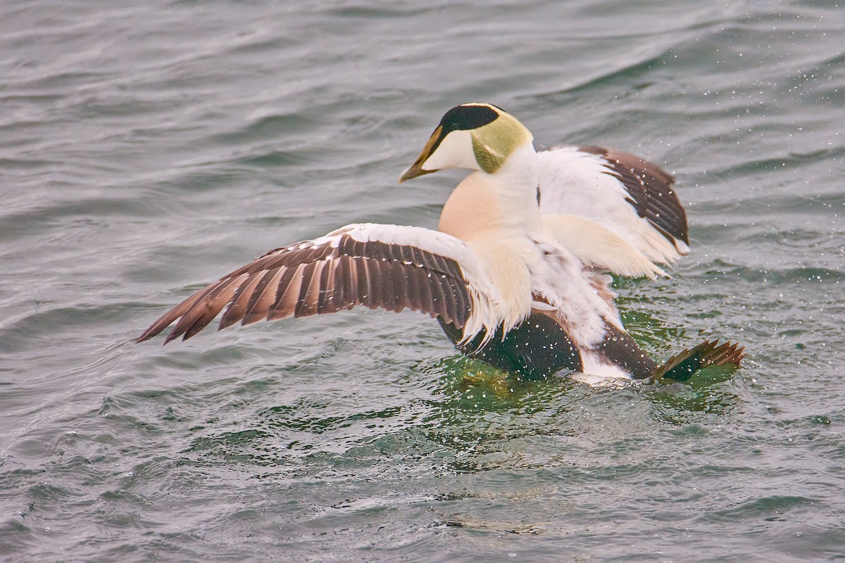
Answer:
M482 328L493 333L497 297L477 257L453 236L420 227L346 225L256 258L167 311L138 340L174 321L165 344L191 338L224 308L219 329L357 305L428 313L462 328L468 339Z

